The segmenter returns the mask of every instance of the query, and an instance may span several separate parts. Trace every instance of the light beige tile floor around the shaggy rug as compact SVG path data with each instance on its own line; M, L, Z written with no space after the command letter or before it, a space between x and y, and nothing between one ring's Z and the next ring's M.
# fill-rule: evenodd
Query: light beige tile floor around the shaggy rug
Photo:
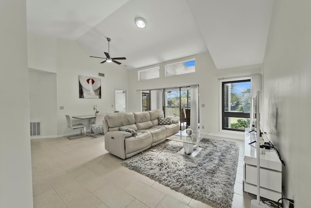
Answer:
M233 208L250 208L243 192L244 141ZM211 208L133 170L104 149L104 137L32 139L34 208ZM221 202L219 202L221 203Z

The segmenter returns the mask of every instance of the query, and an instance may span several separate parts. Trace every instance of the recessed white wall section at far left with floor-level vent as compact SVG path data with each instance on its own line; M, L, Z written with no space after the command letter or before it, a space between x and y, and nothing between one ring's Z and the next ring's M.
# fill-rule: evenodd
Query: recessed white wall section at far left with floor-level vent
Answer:
M30 122L41 122L41 137L56 137L56 74L30 69L29 100Z

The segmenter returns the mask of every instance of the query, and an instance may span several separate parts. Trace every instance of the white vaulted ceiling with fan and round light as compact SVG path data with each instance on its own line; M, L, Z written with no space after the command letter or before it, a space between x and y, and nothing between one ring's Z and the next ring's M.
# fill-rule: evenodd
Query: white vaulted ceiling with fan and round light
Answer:
M31 33L141 68L208 51L217 69L263 61L274 0L27 0ZM148 25L140 29L134 19ZM101 62L93 58L92 61ZM113 63L105 63L113 64Z

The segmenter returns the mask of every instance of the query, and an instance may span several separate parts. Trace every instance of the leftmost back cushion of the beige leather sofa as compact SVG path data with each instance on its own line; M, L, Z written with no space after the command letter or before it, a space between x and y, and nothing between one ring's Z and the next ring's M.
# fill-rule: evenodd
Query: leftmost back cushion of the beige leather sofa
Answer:
M128 113L111 113L105 116L108 127L121 127L135 123L134 114ZM110 131L110 129L109 129Z

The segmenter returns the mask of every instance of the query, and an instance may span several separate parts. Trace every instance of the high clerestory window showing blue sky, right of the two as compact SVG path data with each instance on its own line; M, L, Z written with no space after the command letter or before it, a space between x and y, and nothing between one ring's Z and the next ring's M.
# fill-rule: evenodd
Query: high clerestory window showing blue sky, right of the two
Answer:
M165 66L165 76L183 75L195 72L195 59L181 61Z

